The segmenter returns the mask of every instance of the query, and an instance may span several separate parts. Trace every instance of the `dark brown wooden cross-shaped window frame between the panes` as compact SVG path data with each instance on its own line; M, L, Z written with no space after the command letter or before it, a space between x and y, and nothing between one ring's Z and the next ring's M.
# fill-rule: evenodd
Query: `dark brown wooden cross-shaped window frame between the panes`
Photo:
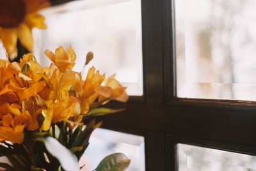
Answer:
M147 171L177 170L178 143L255 155L255 102L177 98L173 7L174 0L141 0L144 93L102 117L103 127L145 137Z

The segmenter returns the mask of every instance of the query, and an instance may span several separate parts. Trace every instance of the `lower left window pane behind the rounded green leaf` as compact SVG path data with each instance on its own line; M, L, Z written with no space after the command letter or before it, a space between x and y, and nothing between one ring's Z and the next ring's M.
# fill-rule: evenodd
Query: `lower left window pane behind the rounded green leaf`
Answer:
M115 152L122 152L131 160L127 171L145 170L144 137L102 128L93 131L90 145L79 162L86 166L83 171L93 170L104 157Z

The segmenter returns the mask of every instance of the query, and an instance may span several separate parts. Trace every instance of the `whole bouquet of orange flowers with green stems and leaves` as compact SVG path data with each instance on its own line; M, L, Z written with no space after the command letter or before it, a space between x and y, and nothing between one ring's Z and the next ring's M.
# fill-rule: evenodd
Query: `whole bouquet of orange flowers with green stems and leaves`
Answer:
M100 106L128 99L115 75L103 84L105 75L94 67L85 80L72 71L76 54L71 47L45 54L52 61L47 68L33 54L19 63L0 60L0 155L10 161L0 167L7 170L79 170L90 134L101 125L93 117L122 110ZM92 57L89 52L84 66ZM124 154L113 154L96 170L123 170L129 162Z

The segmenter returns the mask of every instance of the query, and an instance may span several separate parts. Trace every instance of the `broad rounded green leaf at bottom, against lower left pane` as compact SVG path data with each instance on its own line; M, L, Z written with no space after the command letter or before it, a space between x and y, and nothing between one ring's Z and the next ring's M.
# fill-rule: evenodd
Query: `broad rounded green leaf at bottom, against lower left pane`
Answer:
M131 160L122 153L114 153L100 161L96 171L122 171L129 167Z

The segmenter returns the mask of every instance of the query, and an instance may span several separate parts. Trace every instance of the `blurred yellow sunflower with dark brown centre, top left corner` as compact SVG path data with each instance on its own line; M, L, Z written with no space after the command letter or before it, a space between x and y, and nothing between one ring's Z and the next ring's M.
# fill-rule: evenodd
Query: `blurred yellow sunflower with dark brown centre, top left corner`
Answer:
M11 60L17 57L17 40L29 52L33 49L31 29L45 29L44 17L37 11L49 6L47 0L0 1L0 40Z

